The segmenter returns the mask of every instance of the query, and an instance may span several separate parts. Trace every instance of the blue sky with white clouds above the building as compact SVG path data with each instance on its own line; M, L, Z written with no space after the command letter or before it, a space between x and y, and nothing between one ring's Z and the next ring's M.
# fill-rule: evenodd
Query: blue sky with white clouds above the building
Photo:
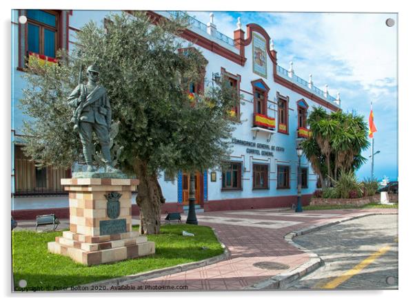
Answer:
M188 12L207 23L210 12ZM397 14L307 13L307 12L214 12L217 30L233 37L237 18L243 30L247 23L261 25L278 52L279 65L288 69L294 62L297 76L329 93L340 92L345 112L367 118L373 102L374 175L398 178ZM396 21L387 27L386 19ZM245 31L246 32L246 31ZM358 178L370 177L371 149L363 152L367 162Z

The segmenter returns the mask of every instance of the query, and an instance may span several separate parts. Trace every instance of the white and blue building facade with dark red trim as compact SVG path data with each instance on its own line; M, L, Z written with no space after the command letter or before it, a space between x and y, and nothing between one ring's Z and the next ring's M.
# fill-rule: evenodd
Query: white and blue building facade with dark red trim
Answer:
M70 169L47 167L39 171L21 151L24 145L23 121L19 107L25 83L22 67L28 56L54 60L60 48L74 47L76 32L89 21L103 24L109 11L12 10L12 211L18 218L68 209L68 196L60 178L70 177ZM153 17L171 18L177 11L152 12ZM26 16L26 23L19 17ZM311 81L296 76L292 65L278 64L272 38L259 24L236 24L233 37L216 28L214 15L203 23L190 19L191 26L178 39L193 43L208 61L205 81L190 90L201 93L213 85L215 76L225 76L241 95L232 111L238 123L232 134L230 160L219 168L196 175L196 205L205 211L286 207L296 202L296 142L308 136L307 113L313 106L327 111L340 109L334 98ZM316 190L317 176L310 163L301 158L302 195L307 202ZM180 172L159 178L166 203L163 211L183 211L188 205L190 178ZM134 204L134 198L132 200ZM133 209L134 211L134 209ZM63 215L64 216L64 215Z

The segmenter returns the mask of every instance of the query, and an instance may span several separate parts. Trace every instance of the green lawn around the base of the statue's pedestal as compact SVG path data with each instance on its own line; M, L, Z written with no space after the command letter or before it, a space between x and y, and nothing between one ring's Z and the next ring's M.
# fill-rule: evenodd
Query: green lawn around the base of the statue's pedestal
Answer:
M194 233L194 237L182 236L183 230ZM63 255L48 252L47 243L61 235L61 232L12 231L15 289L20 280L26 280L28 289L53 291L199 261L223 253L221 244L210 227L173 224L161 227L159 235L148 236L148 240L156 243L154 255L87 267Z

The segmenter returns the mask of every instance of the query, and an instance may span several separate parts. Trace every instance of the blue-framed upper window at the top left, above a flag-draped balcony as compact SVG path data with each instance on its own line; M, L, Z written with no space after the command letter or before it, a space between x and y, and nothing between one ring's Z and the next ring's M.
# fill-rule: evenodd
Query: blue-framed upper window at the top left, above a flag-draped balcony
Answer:
M57 13L27 10L28 51L54 58L57 51Z

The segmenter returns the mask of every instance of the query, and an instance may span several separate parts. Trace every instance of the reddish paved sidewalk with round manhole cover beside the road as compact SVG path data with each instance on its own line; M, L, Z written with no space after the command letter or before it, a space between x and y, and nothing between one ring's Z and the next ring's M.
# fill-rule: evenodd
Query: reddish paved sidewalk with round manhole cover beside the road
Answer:
M181 289L190 291L241 290L274 275L292 271L310 258L307 253L288 244L284 236L305 229L364 213L397 213L397 209L345 209L327 211L278 211L256 209L199 213L199 225L216 230L231 253L228 260L216 264L141 282L125 282L142 289ZM185 220L183 220L185 222ZM185 225L183 226L185 230ZM278 262L285 269L265 269L258 262ZM146 287L147 286L147 287ZM161 286L161 287L160 287ZM164 288L167 289L167 288Z

